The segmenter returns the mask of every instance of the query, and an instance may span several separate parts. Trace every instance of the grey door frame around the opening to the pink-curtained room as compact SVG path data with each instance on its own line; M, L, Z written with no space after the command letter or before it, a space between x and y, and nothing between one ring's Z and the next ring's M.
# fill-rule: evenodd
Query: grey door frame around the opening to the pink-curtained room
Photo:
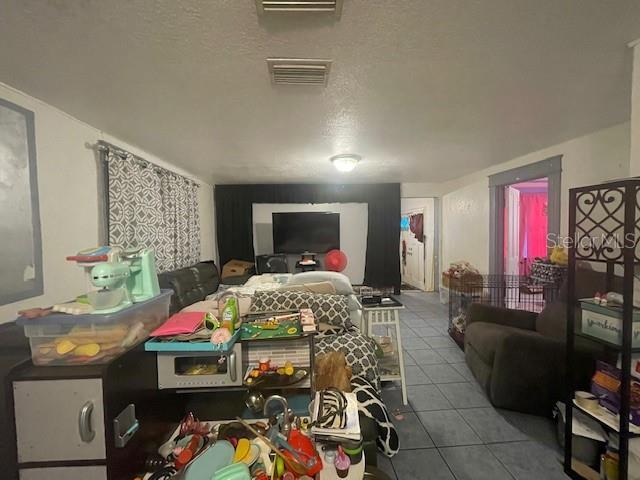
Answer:
M489 273L504 274L504 188L546 177L549 179L547 235L560 235L562 155L489 176Z

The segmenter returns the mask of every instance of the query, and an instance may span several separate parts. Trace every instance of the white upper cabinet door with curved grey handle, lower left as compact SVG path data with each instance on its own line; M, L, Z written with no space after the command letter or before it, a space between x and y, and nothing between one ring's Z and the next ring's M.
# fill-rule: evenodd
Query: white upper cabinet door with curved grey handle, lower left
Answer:
M105 458L102 381L13 383L18 462Z

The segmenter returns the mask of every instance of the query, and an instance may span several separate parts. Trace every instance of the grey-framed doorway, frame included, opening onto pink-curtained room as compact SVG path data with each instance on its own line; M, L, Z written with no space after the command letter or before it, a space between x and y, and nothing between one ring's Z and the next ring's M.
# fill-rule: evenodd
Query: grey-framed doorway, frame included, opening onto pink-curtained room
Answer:
M560 233L562 155L489 177L489 273L527 276Z

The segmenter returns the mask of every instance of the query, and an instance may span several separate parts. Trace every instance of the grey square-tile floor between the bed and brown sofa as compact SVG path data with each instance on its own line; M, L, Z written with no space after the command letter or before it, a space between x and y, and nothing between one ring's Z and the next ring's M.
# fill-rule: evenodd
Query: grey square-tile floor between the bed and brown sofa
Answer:
M384 400L400 435L400 452L378 455L393 480L567 479L551 420L491 406L447 335L447 306L437 294L399 297L409 405L397 385Z

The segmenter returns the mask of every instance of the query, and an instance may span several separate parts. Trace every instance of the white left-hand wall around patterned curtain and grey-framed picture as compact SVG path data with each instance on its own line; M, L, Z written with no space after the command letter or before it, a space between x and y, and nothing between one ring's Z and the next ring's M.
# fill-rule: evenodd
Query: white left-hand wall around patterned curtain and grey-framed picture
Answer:
M44 294L0 306L0 323L15 319L20 309L49 306L83 293L83 273L65 257L100 242L98 157L91 147L98 140L114 143L200 183L201 257L216 258L211 185L2 83L0 98L35 113L44 276Z

